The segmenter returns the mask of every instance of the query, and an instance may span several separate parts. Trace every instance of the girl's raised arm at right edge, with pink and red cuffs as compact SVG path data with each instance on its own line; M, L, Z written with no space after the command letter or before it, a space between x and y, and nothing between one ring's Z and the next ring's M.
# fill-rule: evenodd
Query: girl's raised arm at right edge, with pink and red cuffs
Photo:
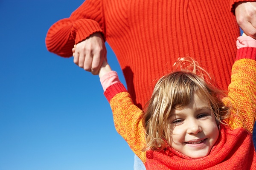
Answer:
M232 117L227 122L233 129L244 127L252 133L256 121L256 40L249 36L239 37L237 47L228 88Z

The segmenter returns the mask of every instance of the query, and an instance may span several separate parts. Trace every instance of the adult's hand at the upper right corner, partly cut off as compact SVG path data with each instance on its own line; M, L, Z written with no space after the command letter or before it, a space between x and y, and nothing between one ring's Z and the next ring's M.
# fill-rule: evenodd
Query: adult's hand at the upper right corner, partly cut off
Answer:
M235 4L236 21L245 34L256 39L256 2Z

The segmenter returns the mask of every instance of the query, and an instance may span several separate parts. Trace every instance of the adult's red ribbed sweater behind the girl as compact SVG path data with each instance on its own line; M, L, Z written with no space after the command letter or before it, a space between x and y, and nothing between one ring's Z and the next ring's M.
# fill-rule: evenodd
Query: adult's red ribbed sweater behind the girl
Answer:
M102 32L140 108L179 57L194 58L227 90L240 34L230 12L233 1L86 0L49 29L46 45L70 57L75 43Z

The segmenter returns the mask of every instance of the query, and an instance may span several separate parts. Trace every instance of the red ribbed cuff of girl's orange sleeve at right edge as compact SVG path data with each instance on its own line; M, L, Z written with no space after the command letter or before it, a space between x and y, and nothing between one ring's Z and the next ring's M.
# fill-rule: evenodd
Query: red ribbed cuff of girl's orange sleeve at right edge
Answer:
M256 60L256 48L243 47L237 50L236 60L239 59L253 59Z

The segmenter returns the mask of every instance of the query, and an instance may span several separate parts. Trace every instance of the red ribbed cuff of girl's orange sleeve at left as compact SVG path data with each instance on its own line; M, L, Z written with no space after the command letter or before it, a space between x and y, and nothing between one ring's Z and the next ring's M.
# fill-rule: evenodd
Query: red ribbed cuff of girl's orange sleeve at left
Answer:
M121 93L121 92L127 92L127 90L122 83L118 82L118 83L115 83L115 84L109 86L106 89L106 91L104 92L104 95L107 98L108 102L110 102L110 100L113 98L113 96L115 96L116 94Z

